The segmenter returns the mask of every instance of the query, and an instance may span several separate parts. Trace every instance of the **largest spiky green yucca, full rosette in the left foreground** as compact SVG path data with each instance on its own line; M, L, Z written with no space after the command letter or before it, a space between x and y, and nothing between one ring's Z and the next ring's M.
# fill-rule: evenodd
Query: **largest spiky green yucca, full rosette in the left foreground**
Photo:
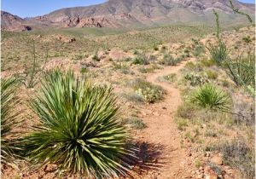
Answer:
M130 167L125 156L132 154L112 88L59 70L41 84L31 102L39 124L23 140L32 164L55 164L87 178L125 175Z

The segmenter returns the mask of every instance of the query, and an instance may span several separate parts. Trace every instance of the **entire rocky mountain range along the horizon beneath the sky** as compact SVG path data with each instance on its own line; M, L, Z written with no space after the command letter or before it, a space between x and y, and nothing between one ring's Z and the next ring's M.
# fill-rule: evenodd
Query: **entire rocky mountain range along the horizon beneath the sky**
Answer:
M254 18L254 4L233 0L240 9ZM135 28L173 24L210 25L216 9L224 24L242 24L245 17L234 14L229 0L108 0L87 7L55 10L38 17L22 19L1 11L2 29L29 31L44 27L110 27Z

